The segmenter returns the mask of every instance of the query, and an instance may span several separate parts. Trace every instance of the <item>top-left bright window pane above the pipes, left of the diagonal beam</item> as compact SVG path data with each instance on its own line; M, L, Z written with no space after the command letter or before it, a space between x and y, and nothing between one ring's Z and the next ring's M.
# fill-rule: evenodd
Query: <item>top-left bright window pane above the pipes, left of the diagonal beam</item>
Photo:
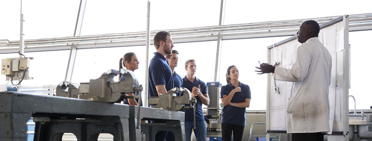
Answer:
M22 1L24 39L44 39L74 35L78 0ZM0 13L6 17L0 25L0 39L19 40L20 0L2 1Z

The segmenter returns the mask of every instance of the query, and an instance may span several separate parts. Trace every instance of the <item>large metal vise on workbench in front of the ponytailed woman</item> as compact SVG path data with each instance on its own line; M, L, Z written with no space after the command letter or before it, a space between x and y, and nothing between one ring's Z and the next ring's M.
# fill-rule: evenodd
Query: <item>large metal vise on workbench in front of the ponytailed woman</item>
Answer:
M125 81L114 82L113 78L120 73L125 76ZM143 87L142 85L137 87L137 84L137 78L132 71L121 69L119 72L110 69L103 73L100 78L90 79L89 83L80 83L78 91L72 91L71 94L70 90L73 89L67 88L68 91L66 91L65 87L67 86L58 85L57 89L61 87L64 91L60 91L61 94L58 94L57 91L57 96L64 96L66 94L63 94L63 92L67 92L66 97L78 95L79 99L114 103L120 102L124 98L129 98L125 93L133 93L134 96L130 98L138 98L138 94L143 91Z

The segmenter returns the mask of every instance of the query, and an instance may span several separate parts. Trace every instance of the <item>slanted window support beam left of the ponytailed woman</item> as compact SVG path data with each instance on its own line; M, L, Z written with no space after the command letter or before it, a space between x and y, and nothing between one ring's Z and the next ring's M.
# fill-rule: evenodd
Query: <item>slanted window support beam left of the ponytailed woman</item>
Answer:
M87 0L80 0L80 6L79 6L78 13L77 13L74 36L80 36L81 26L83 26L83 19L84 19L84 12L85 12L86 4L87 4ZM76 47L74 47L74 44L71 44L70 57L68 58L67 70L66 70L66 76L65 76L64 83L71 82L72 73L74 71L76 53L77 53Z

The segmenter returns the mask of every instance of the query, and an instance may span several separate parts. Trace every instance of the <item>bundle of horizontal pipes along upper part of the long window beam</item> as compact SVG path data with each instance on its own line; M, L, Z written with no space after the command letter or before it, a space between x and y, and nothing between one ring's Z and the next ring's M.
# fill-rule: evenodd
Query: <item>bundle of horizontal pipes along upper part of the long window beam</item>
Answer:
M314 18L318 23L324 24L330 20L338 17L321 17ZM372 23L372 14L357 14L350 15L350 24ZM285 30L297 29L301 22L310 19L299 20L286 20L286 21L273 21L273 22L259 22L259 23L245 23L245 24L231 24L231 25L218 25L206 27L194 27L186 29L173 29L167 30L172 33L173 37L181 36L196 36L196 35L213 35L225 33L243 33L243 32L261 32L271 30ZM153 31L151 36L160 30ZM103 35L88 35L88 36L72 36L72 37L55 37L47 39L32 39L25 40L25 46L41 46L41 45L58 45L70 43L92 43L92 42L106 42L106 41L124 41L124 40L138 40L145 39L146 32L133 32L133 33L115 33ZM0 47L16 47L19 46L19 41L9 41L0 44Z

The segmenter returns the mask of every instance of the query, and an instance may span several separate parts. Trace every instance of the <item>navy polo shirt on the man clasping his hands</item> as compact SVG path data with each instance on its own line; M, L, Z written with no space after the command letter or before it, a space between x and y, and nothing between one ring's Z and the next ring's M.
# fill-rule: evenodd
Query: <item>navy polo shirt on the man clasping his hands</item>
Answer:
M207 85L200 79L195 78L195 81L191 83L191 81L187 80L186 76L183 78L182 87L188 89L190 92L192 91L192 88L194 86L199 88L199 85L200 85L200 92L202 94L208 94ZM196 98L195 121L196 122L204 121L202 102L200 101L199 96L195 96L195 98ZM185 104L185 106L190 106L190 104ZM185 112L185 121L191 121L191 122L194 121L194 109L193 108L185 108L182 110L182 112Z

